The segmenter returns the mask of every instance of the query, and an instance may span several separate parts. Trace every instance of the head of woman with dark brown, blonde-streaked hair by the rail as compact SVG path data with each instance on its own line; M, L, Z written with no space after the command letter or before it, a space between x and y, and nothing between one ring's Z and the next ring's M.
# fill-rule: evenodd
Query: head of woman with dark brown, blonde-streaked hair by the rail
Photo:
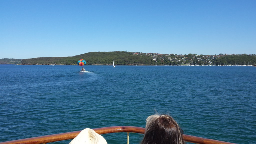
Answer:
M142 144L184 144L183 131L169 115L152 115L146 119Z

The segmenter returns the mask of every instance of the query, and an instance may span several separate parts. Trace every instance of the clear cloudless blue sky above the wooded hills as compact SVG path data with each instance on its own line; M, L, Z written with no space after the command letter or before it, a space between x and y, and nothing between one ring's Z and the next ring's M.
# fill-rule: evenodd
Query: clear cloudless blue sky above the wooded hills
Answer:
M0 0L0 58L256 54L255 0Z

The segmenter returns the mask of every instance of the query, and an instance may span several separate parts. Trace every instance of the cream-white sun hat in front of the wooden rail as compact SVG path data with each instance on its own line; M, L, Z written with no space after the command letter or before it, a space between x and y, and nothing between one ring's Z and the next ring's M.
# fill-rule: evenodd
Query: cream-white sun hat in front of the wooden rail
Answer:
M106 140L93 129L82 130L69 144L107 144Z

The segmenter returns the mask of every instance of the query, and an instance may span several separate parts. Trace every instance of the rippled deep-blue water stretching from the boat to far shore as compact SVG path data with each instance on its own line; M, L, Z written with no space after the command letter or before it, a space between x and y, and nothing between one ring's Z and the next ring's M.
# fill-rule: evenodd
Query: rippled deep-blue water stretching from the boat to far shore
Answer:
M0 142L170 114L184 134L256 143L256 67L0 65ZM127 133L103 135L127 143ZM130 133L138 144L141 134ZM54 142L68 144L71 140Z

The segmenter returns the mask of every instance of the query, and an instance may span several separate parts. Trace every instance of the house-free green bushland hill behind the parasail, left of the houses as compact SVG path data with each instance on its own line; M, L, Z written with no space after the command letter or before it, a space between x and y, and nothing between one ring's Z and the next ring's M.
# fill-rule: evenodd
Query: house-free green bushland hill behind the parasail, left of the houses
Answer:
M152 57L133 55L131 52L90 52L72 57L39 57L23 59L21 64L55 64L76 65L79 59L84 59L87 65L111 65L115 59L115 65L151 64Z

